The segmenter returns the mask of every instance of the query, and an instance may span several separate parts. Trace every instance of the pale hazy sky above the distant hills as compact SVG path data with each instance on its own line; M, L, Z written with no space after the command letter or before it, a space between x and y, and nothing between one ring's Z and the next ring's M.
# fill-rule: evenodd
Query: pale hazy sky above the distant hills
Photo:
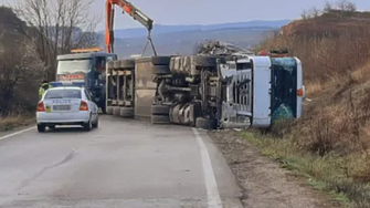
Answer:
M17 2L20 0L0 0ZM297 19L304 9L321 8L325 0L130 0L159 24L210 24L250 20ZM331 1L332 2L332 1ZM369 0L352 0L359 10L370 10ZM91 11L104 17L105 0L95 0ZM118 10L116 10L118 11ZM115 28L141 27L116 12ZM104 19L99 23L104 29Z

